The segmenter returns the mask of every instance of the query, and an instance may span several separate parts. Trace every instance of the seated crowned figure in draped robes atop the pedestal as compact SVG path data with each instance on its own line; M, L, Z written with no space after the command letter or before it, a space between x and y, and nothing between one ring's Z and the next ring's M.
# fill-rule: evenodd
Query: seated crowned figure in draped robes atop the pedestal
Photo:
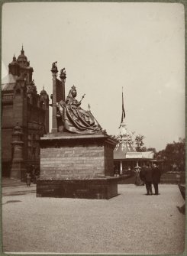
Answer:
M92 113L80 107L81 101L79 102L76 96L76 87L72 86L66 102L61 100L58 104L63 131L76 134L103 133L101 125L98 124Z

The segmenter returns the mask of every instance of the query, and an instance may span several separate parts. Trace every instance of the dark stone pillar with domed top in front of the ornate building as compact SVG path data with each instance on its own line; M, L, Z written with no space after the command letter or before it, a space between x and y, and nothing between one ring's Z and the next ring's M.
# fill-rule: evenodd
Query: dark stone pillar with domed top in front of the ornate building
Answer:
M13 157L11 162L11 178L24 180L26 168L23 160L23 146L21 127L17 124L12 134Z

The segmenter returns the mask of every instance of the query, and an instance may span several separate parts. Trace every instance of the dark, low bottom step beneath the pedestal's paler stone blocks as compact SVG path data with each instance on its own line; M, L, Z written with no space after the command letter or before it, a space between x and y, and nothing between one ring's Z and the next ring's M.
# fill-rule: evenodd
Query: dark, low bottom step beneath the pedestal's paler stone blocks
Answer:
M37 197L110 199L118 196L115 178L38 180Z

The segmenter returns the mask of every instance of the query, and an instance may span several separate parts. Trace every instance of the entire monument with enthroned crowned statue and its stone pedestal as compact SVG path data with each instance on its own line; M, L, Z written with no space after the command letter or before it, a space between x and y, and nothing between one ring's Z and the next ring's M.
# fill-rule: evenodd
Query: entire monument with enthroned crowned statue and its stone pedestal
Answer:
M108 136L90 110L81 108L76 86L65 97L66 71L53 76L52 130L40 139L40 179L37 196L109 199L118 196L113 151Z

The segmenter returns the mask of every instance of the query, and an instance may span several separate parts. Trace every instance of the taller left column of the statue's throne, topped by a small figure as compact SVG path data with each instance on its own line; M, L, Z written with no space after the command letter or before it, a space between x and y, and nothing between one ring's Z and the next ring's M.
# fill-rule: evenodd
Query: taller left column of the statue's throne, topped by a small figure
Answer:
M53 114L52 114L52 133L57 132L57 119L56 119L56 74L58 73L56 62L53 63L52 69L50 70L52 72L53 76Z

